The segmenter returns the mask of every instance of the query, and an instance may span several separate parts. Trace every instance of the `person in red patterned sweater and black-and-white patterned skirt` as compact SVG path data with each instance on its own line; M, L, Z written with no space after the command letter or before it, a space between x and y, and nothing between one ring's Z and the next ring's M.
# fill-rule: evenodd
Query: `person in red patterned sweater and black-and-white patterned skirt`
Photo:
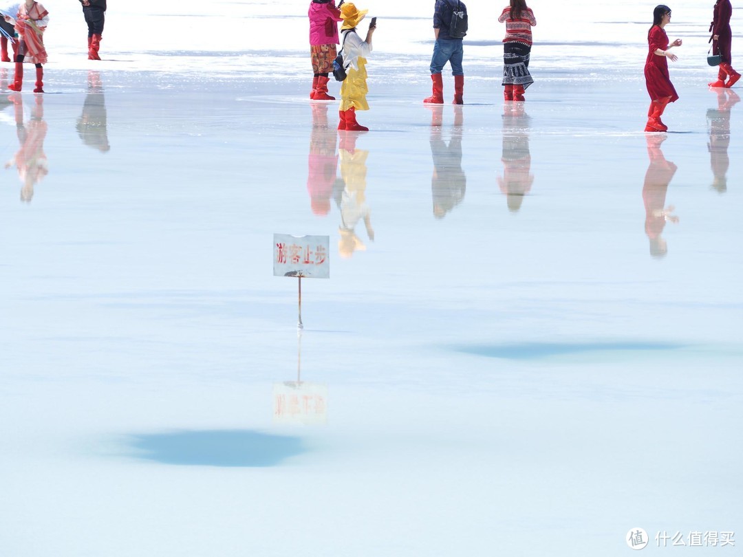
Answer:
M498 21L506 24L503 39L503 98L524 100L524 91L534 80L529 73L531 27L536 25L534 13L526 0L510 0Z

